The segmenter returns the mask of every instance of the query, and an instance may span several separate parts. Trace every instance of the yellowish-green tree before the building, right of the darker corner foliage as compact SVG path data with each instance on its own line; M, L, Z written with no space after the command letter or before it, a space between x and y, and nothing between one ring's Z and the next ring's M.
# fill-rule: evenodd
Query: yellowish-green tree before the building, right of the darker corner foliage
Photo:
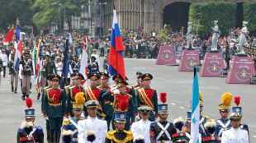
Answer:
M40 29L48 27L53 22L62 24L65 21L69 25L69 31L72 30L72 16L80 16L82 5L88 2L87 0L36 0L34 9L36 14L33 16L33 21ZM55 23L58 25L58 23ZM58 25L59 26L59 25ZM59 27L61 28L61 27Z

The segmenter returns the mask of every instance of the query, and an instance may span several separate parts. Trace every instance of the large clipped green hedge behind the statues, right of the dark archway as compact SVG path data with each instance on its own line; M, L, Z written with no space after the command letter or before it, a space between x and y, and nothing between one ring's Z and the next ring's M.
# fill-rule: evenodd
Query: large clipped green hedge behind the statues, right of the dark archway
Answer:
M227 30L235 27L235 12L235 2L192 3L189 10L189 21L199 25L199 35L212 33L213 21L219 21L221 33L226 35ZM197 33L194 28L192 30L194 34Z

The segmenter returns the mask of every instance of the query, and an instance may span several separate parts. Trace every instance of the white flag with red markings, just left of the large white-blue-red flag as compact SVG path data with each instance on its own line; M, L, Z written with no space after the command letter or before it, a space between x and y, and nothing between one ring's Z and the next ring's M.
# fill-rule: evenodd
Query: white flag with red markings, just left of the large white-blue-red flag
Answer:
M83 75L84 77L84 81L82 82L82 85L84 87L87 87L88 86L88 53L87 53L87 48L88 48L88 36L85 36L83 38L83 56L82 56L82 59L81 59L81 66L80 66L80 73Z

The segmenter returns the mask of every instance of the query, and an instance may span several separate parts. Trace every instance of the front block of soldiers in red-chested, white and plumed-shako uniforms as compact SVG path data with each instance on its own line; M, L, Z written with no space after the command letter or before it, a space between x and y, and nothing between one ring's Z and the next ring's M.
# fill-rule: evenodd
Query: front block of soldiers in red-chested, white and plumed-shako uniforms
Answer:
M186 118L168 121L167 94L158 95L157 91L151 88L151 74L136 72L138 83L131 87L120 75L112 76L115 84L108 85L110 77L107 72L94 72L88 76L90 85L84 87L83 75L74 72L70 76L71 85L61 89L61 77L50 74L46 78L47 86L43 89L41 97L41 110L46 124L45 142L192 141L191 111L187 112ZM249 142L249 127L241 123L240 97L234 98L237 107L233 107L230 114L233 96L230 93L222 95L219 105L220 118L212 120L202 114L201 92L199 95L200 142ZM158 103L158 96L161 104ZM24 98L26 104L29 104L31 99L27 95L24 95ZM33 124L35 109L28 105L25 113L26 121L21 123L17 142L44 142L43 129Z

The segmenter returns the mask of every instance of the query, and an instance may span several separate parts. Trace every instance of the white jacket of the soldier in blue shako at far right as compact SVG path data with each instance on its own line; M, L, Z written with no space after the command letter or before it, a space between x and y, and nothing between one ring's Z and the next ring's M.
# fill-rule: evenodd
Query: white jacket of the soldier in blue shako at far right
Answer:
M221 143L249 143L248 131L231 127L223 131Z

